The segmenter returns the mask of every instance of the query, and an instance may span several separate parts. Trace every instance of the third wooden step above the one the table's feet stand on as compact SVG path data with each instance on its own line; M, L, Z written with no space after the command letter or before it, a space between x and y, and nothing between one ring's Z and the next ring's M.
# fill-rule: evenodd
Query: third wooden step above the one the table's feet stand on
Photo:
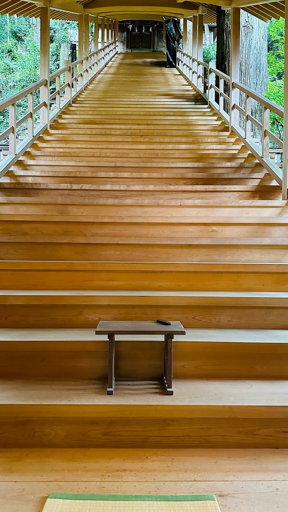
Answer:
M288 291L287 263L1 261L2 288Z

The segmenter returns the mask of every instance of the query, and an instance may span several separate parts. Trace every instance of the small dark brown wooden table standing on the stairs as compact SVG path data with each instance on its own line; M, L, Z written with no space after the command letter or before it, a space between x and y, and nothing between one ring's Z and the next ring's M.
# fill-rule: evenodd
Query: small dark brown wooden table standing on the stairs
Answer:
M113 395L115 384L115 335L116 334L163 334L164 335L164 370L163 377L167 395L173 395L172 387L172 344L174 334L186 334L181 322L162 325L157 322L99 322L96 334L108 335L108 387L107 395Z

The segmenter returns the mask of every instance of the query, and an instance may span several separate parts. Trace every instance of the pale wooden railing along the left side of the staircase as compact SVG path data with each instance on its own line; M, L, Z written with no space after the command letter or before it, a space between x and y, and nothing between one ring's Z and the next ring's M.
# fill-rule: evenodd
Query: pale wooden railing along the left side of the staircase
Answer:
M95 50L87 57L75 62L65 61L65 66L50 75L50 80L56 81L56 89L50 94L49 100L56 98L56 108L50 110L49 105L42 101L34 106L34 93L38 89L47 87L47 80L42 79L31 86L22 89L16 94L0 101L0 112L9 108L9 127L0 133L0 142L9 136L9 154L0 161L0 178L4 176L12 165L35 142L35 140L47 129L47 123L39 123L35 126L34 116L40 109L49 109L50 123L65 109L76 96L83 91L94 78L118 53L118 39L109 42L103 48ZM87 79L84 81L84 73ZM64 75L64 83L61 86L61 75ZM50 87L50 83L48 84ZM64 94L63 94L64 93ZM17 101L28 98L28 112L17 120ZM27 137L17 144L16 131L19 126L28 121Z

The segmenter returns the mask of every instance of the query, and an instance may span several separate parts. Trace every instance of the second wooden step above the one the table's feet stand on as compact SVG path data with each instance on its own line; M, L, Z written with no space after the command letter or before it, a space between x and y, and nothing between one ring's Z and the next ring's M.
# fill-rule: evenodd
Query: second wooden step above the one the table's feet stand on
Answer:
M185 328L287 329L287 292L1 290L1 327L95 327L101 320L180 320Z

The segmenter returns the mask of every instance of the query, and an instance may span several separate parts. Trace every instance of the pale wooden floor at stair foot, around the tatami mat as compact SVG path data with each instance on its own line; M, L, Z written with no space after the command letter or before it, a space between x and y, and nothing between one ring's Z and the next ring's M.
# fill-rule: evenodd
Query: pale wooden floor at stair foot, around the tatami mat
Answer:
M221 512L286 512L288 450L2 450L0 509L51 492L215 494Z

